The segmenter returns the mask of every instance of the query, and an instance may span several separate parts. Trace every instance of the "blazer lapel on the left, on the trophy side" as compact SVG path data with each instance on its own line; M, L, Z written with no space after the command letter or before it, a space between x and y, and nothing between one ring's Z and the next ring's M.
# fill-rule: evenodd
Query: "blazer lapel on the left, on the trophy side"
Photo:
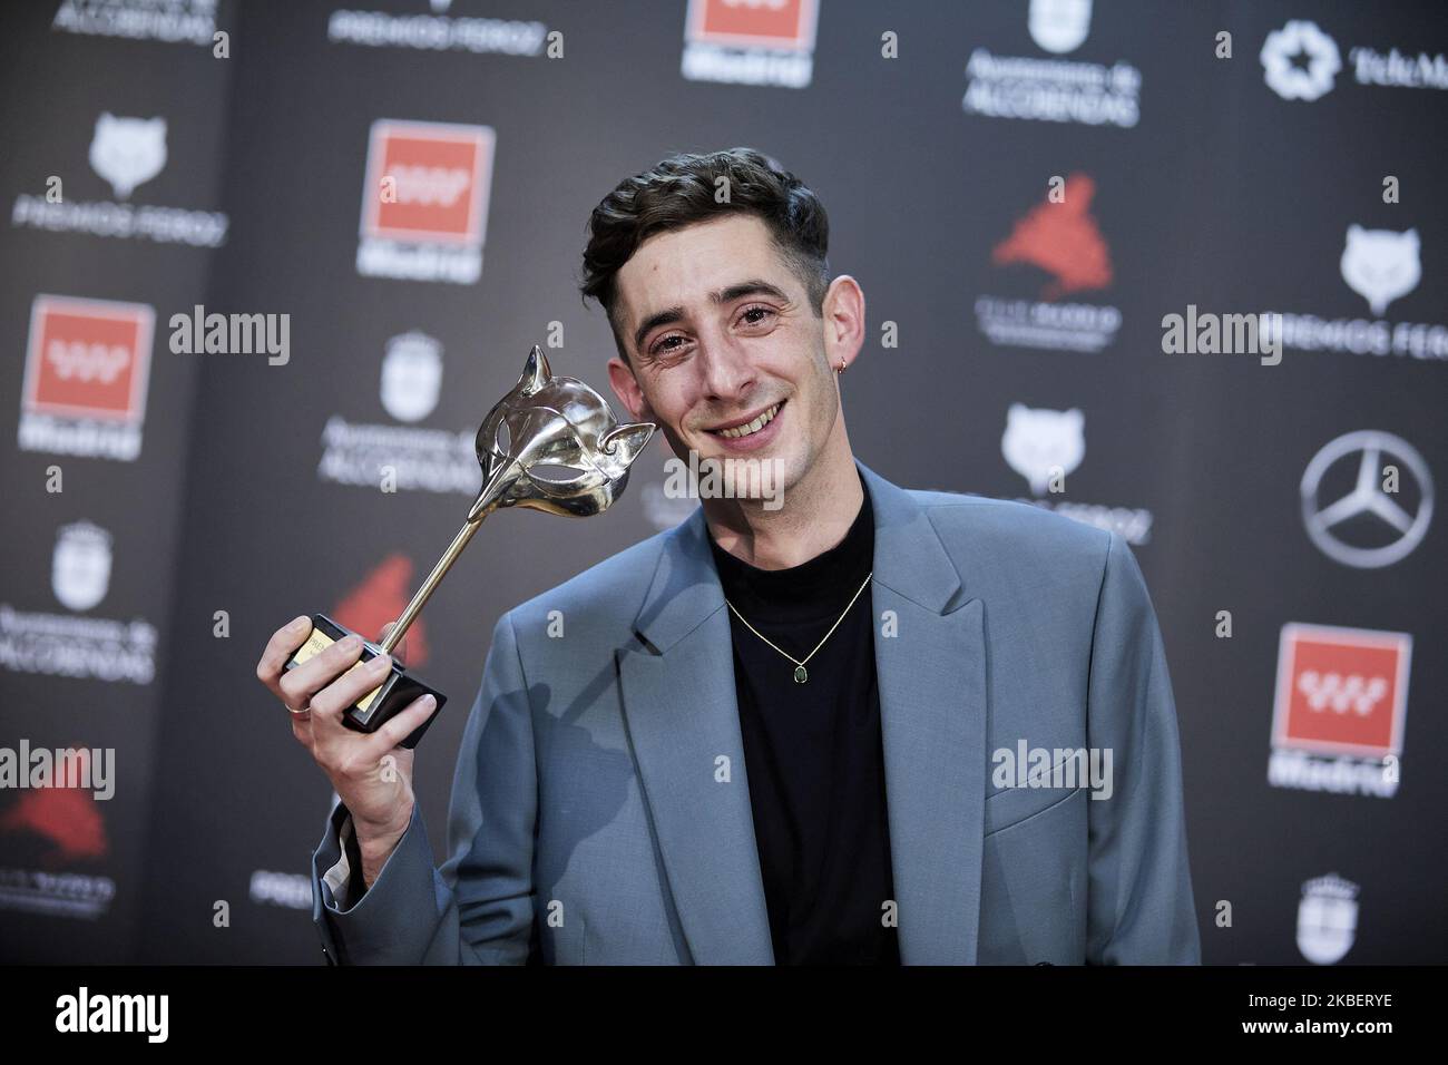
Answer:
M634 623L639 645L618 652L618 682L694 961L773 965L728 611L707 535L702 509L669 533Z

